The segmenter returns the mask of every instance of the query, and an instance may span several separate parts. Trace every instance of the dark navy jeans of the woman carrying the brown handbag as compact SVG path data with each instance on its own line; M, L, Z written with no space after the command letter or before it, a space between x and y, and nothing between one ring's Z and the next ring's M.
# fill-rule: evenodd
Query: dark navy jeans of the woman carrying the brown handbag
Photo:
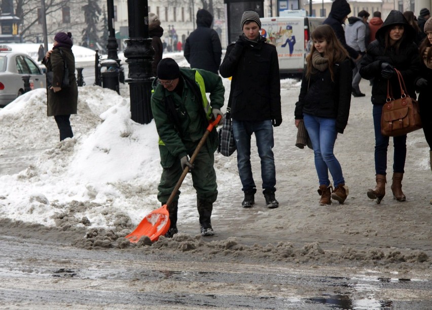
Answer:
M372 115L375 128L375 172L386 175L387 148L389 137L381 135L382 106L374 105ZM404 173L405 158L407 157L407 135L393 137L393 172Z

